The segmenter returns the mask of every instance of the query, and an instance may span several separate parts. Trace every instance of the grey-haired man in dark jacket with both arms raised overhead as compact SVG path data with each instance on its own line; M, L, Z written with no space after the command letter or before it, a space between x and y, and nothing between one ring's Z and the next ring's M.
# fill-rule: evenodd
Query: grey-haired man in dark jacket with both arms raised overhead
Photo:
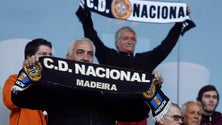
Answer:
M189 8L188 13L190 13ZM185 29L183 22L176 23L159 46L151 51L134 54L137 37L132 28L123 27L116 32L115 45L117 50L115 50L105 46L98 37L93 27L91 13L86 7L84 9L79 7L76 15L83 25L85 37L91 39L96 46L96 57L100 64L141 70L150 74L169 55ZM140 125L147 124L146 119L150 109L141 98L126 98L119 101L122 105L119 111L123 110L125 112L121 112L121 114L116 111L116 114L119 115L118 121L124 121L118 123L118 125L137 124L137 122Z

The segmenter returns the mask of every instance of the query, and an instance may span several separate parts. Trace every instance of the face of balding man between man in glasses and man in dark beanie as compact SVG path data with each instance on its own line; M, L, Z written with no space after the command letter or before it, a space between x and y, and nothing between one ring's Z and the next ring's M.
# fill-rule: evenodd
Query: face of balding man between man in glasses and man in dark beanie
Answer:
M201 106L195 102L189 103L183 116L184 125L200 125L202 118Z

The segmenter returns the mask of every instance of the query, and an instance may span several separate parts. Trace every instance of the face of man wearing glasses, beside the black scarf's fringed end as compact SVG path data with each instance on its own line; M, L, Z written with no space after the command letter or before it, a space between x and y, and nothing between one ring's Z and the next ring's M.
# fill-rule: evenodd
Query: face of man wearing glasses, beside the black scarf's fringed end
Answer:
M171 107L167 115L160 120L161 125L181 125L182 113L179 108Z

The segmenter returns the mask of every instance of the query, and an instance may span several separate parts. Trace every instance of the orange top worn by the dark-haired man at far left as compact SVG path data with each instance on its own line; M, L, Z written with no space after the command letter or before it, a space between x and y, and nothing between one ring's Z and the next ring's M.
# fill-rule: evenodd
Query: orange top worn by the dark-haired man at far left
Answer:
M20 108L11 101L11 87L14 85L17 77L17 74L9 76L3 87L3 102L11 111L10 125L46 125L46 119L42 110Z

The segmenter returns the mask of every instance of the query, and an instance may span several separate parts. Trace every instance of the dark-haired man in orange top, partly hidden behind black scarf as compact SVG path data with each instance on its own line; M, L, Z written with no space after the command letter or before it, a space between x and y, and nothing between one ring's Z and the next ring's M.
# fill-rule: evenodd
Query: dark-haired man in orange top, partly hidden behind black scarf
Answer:
M25 59L36 55L51 56L52 45L42 38L34 39L25 47ZM18 74L8 77L3 87L3 102L10 112L10 125L46 125L46 116L42 110L32 110L16 106L11 100L11 88L17 80Z

